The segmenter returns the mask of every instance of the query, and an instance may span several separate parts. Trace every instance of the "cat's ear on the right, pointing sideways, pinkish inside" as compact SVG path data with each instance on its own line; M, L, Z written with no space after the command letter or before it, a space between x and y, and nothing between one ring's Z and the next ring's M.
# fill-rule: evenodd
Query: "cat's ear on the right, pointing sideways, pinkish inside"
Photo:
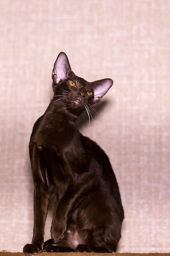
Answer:
M113 85L113 80L109 78L93 82L92 83L92 88L94 91L93 103L99 102L112 85Z

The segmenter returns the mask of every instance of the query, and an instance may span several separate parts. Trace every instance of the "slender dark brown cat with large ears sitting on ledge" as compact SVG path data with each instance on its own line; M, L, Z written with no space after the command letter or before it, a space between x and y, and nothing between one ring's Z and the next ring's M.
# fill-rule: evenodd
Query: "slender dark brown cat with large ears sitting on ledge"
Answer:
M33 127L29 153L34 180L34 228L25 254L115 252L124 210L104 151L78 130L78 117L102 99L112 79L89 83L76 76L61 52L53 67L54 96ZM51 238L44 225L53 205ZM63 243L65 242L65 245Z

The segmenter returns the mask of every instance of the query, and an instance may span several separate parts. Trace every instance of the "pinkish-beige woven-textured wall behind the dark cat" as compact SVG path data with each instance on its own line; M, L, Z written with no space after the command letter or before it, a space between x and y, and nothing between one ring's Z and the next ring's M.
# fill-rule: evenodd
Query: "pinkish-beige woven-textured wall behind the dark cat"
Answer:
M29 137L61 51L87 81L114 80L81 131L119 182L118 252L170 252L170 0L0 1L0 250L32 239Z

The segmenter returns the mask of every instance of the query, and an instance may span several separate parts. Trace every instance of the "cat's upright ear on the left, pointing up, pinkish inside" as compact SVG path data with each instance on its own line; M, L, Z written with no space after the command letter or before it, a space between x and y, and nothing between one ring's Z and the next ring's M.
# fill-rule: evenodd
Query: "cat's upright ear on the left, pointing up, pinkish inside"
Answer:
M61 80L65 80L71 72L71 67L66 54L64 52L60 52L53 67L53 82L59 83Z

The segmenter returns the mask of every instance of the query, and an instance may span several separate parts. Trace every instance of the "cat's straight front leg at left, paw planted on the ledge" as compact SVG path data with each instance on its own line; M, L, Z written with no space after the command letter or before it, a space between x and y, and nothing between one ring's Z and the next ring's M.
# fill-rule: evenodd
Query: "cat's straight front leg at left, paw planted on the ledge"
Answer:
M34 228L31 244L26 244L23 252L28 255L38 254L44 247L44 227L49 206L49 193L42 175L41 150L30 142L30 158L34 179Z

